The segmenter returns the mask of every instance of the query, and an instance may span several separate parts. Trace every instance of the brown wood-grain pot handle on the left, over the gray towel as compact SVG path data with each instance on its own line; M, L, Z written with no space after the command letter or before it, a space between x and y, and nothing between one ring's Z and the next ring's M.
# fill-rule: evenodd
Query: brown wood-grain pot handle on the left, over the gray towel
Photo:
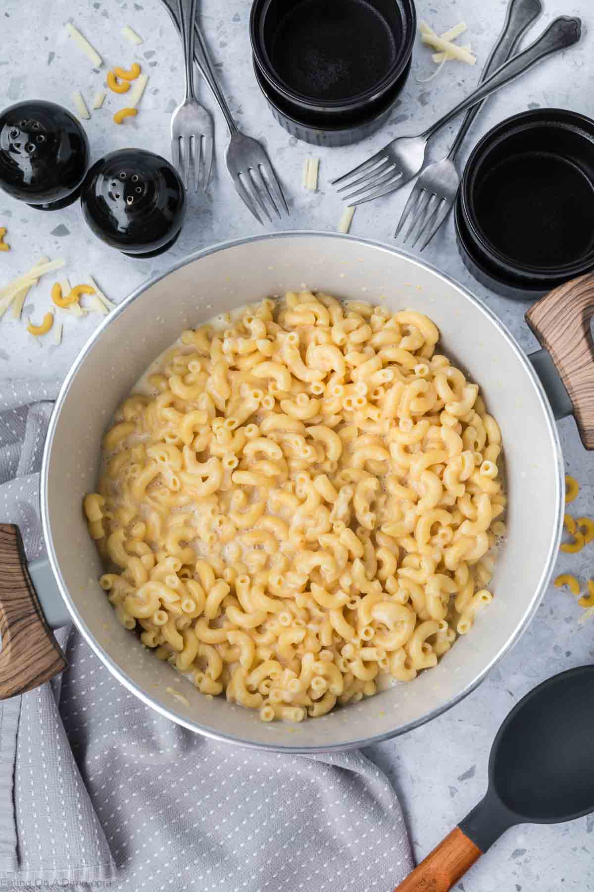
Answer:
M66 668L29 578L20 531L0 524L0 699L37 688Z

